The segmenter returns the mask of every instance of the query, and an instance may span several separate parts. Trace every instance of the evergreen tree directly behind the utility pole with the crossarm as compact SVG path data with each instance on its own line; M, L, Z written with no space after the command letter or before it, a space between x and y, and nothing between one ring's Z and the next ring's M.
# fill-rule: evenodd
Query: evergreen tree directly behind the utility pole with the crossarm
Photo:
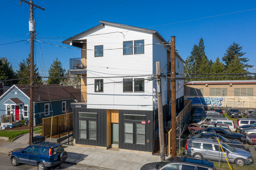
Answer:
M20 64L20 69L17 70L17 77L20 79L18 84L30 84L30 79L22 79L30 77L30 54L28 58L23 59ZM38 68L35 64L34 66L34 77L39 76ZM42 84L42 79L39 77L34 78L35 84Z

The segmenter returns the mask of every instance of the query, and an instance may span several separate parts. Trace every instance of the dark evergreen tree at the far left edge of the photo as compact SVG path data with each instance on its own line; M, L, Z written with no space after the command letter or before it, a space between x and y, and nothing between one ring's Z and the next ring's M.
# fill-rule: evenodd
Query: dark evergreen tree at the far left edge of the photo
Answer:
M16 75L10 62L5 57L0 58L0 80L11 80L15 78ZM7 86L13 84L15 84L15 81L6 81Z

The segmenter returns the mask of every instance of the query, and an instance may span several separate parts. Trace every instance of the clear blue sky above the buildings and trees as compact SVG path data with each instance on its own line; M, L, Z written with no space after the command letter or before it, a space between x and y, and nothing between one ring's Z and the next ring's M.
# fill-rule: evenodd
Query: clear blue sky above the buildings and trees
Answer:
M223 57L226 48L232 42L236 42L243 46L245 57L248 57L249 63L254 65L249 71L256 73L256 10L182 22L254 9L256 8L254 0L34 0L33 2L46 9L34 11L34 19L37 22L36 38L44 42L68 47L61 43L67 38L49 40L39 37L72 37L98 25L99 20L105 20L136 27L151 27L149 29L158 31L165 40L176 36L176 48L184 60L201 37L206 46L206 56L213 61L217 57ZM29 10L29 5L24 2L20 5L19 0L0 1L0 44L30 39ZM71 20L74 21L69 22ZM176 22L182 23L171 24ZM160 26L163 24L169 25ZM39 67L39 73L46 76L50 64L56 57L67 70L69 58L79 58L81 53L80 50L75 49L39 42L35 44L35 62ZM30 41L28 44L18 42L0 46L0 57L6 57L15 70L19 69L19 62L29 53Z

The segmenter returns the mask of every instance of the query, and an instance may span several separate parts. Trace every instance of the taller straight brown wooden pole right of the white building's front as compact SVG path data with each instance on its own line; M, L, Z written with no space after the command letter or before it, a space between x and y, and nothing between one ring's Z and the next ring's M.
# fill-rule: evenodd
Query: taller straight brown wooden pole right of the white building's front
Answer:
M176 146L176 74L175 74L175 37L171 37L171 121L172 157L177 155Z

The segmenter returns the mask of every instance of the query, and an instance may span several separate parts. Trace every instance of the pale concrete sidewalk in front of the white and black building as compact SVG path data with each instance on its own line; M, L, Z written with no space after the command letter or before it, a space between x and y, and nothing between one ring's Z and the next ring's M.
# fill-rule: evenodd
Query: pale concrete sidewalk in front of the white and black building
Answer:
M0 141L0 154L8 154L15 148L25 148L26 146L28 144ZM64 148L68 152L66 162L100 168L139 170L146 163L160 161L159 155L135 154L83 146L64 146Z

